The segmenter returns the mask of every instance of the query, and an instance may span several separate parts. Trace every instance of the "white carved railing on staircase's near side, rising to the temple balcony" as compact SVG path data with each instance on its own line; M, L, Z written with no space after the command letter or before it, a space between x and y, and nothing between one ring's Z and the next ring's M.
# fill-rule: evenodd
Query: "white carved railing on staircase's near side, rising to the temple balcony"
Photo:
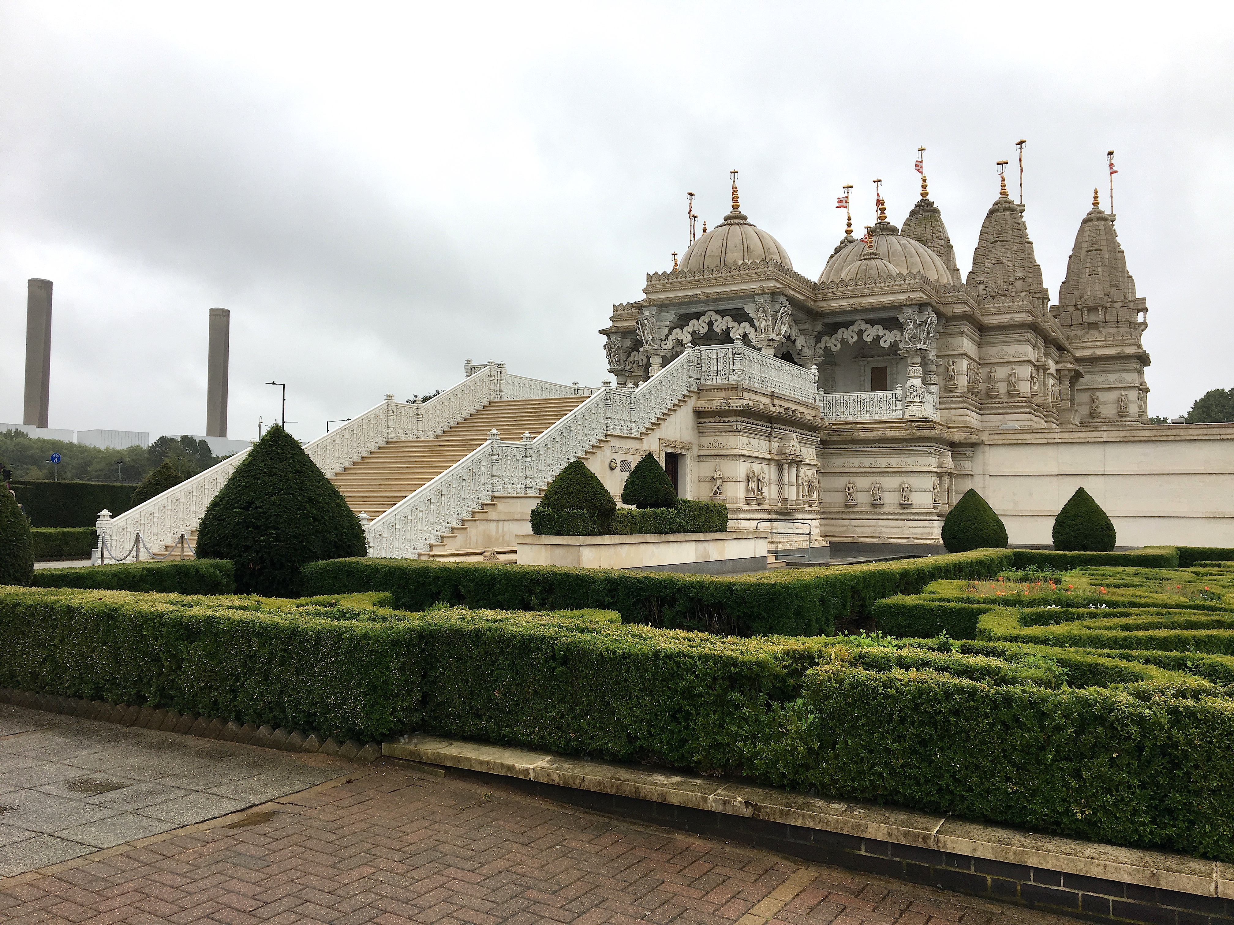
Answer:
M637 390L594 391L534 440L502 440L494 432L486 444L373 520L365 528L369 555L424 553L494 495L534 495L606 438L638 437L700 385L724 382L814 398L813 376L791 363L739 344L687 348Z

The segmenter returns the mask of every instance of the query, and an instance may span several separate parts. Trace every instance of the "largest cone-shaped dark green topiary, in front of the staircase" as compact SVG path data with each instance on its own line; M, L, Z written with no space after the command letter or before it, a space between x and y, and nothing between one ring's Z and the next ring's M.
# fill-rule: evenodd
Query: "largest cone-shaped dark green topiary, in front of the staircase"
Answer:
M363 556L364 530L295 438L273 424L206 508L196 553L232 560L239 593L296 597L300 566Z

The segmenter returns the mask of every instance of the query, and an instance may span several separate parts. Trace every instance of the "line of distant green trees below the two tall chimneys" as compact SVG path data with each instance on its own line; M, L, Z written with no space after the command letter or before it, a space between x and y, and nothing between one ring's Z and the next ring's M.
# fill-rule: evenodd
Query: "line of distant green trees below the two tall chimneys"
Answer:
M60 454L59 472L51 462L53 453ZM19 481L56 479L73 482L139 482L163 460L189 477L222 461L210 451L210 444L188 434L160 437L149 446L99 449L81 443L47 440L27 437L22 430L0 433L0 465L12 470ZM116 465L116 462L121 465Z

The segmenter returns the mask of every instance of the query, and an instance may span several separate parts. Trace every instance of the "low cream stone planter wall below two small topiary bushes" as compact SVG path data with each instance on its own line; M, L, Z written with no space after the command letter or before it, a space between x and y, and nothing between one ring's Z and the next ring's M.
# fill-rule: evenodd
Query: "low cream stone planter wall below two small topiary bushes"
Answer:
M768 555L768 534L761 530L732 533L639 533L628 536L515 538L520 565L566 565L584 569L633 569L648 565L714 562Z

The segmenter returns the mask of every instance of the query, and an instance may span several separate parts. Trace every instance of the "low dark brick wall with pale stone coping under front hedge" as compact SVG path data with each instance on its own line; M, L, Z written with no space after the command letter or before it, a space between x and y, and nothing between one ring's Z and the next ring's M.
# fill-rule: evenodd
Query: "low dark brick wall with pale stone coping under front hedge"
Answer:
M1098 921L1234 924L1234 865L896 807L415 735L385 755L811 861Z

